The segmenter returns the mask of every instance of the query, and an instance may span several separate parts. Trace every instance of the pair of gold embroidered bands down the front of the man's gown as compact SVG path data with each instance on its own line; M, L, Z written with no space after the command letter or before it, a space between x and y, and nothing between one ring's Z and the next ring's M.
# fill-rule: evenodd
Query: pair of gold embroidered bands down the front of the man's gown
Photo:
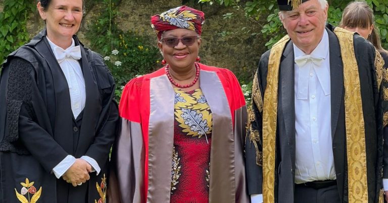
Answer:
M340 41L344 63L349 203L368 202L365 127L353 33L341 28L335 28L334 33ZM287 35L279 40L272 47L268 60L267 87L263 107L263 201L265 203L272 203L275 200L277 90L280 58L288 40Z

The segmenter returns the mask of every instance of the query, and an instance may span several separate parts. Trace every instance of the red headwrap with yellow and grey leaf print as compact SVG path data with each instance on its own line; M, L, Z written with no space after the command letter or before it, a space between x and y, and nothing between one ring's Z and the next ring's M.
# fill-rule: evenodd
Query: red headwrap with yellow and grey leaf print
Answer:
M164 31L177 28L193 30L201 35L204 22L205 14L202 11L186 6L170 9L160 15L151 17L151 26L156 31L159 40Z

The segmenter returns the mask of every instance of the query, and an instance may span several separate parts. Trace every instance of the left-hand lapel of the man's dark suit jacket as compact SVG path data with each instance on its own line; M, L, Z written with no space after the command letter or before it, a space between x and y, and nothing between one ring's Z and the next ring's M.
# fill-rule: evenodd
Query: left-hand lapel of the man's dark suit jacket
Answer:
M292 166L295 166L295 65L294 65L294 46L289 41L283 51L283 59L280 63L280 88L281 110L285 125L285 134L290 143L289 152L292 160ZM281 133L281 132L279 132Z

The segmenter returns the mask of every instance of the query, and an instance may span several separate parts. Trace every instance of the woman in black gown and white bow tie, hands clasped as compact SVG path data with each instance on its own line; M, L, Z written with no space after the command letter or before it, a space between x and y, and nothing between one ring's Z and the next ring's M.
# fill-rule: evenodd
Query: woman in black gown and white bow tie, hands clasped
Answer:
M0 203L105 202L118 127L103 58L75 35L82 0L40 0L45 29L0 78Z

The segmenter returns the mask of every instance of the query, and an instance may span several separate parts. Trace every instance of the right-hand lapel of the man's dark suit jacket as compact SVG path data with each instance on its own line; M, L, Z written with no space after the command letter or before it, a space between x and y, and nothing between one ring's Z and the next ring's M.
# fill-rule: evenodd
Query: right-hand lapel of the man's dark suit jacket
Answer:
M340 42L332 31L326 31L329 35L330 54L331 139L334 139L344 92L344 74Z

